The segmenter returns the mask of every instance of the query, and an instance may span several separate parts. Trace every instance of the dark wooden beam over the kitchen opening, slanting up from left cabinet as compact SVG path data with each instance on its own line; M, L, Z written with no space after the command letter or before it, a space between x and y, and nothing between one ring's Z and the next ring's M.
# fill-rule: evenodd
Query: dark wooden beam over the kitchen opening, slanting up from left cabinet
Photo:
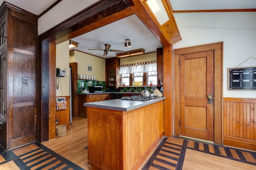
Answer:
M42 33L39 40L59 44L132 14L123 0L101 0Z

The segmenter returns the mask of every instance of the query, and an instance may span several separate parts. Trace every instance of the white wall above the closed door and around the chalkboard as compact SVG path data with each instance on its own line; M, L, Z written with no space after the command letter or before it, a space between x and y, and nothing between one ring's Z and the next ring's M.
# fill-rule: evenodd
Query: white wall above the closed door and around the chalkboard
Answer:
M256 98L256 90L228 90L228 68L256 66L256 12L174 13L174 17L182 41L173 49L223 41L223 97Z

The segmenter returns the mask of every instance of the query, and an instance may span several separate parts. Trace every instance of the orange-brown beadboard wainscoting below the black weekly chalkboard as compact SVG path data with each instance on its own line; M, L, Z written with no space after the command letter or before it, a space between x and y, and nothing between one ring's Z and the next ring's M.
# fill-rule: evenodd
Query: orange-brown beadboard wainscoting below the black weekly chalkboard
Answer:
M223 144L256 150L256 99L223 98Z

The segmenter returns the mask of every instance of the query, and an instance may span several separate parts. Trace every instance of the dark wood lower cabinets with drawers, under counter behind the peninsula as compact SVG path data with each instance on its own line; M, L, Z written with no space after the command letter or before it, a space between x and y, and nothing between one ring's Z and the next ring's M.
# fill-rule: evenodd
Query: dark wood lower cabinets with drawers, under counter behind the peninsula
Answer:
M87 118L87 109L84 103L110 100L110 94L77 94L78 96L78 117Z

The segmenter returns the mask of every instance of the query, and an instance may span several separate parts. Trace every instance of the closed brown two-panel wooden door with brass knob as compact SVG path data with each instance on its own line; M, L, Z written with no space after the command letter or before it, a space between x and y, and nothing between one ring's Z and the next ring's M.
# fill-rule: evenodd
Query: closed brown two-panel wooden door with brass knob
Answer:
M180 135L213 141L214 52L180 55ZM210 99L211 98L211 99Z

